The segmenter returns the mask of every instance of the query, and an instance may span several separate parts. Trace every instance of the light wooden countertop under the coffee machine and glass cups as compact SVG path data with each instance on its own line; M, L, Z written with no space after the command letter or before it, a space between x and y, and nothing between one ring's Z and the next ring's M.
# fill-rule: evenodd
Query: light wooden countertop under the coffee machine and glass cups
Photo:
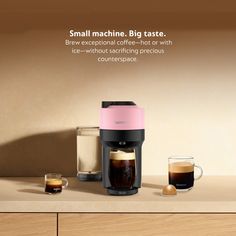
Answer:
M164 197L164 176L143 177L132 196L110 196L100 182L68 178L61 194L44 193L43 178L0 178L0 212L236 213L236 176L204 176L192 190Z

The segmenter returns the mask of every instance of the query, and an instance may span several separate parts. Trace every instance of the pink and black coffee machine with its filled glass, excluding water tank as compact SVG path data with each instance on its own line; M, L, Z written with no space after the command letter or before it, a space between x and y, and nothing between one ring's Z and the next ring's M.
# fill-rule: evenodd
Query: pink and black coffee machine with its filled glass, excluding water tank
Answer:
M111 195L131 195L141 187L144 111L130 101L102 102L102 181Z

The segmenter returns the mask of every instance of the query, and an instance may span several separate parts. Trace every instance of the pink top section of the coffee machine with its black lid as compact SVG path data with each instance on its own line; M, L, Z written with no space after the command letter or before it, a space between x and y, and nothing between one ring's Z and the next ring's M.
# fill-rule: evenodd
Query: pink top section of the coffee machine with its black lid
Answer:
M144 129L144 110L132 101L102 102L100 129L139 130Z

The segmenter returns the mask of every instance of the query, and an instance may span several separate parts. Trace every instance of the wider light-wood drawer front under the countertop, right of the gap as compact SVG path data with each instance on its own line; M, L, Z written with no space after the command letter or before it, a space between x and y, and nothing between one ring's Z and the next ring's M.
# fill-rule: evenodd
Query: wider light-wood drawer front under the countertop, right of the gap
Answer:
M60 236L236 235L236 214L59 214Z

